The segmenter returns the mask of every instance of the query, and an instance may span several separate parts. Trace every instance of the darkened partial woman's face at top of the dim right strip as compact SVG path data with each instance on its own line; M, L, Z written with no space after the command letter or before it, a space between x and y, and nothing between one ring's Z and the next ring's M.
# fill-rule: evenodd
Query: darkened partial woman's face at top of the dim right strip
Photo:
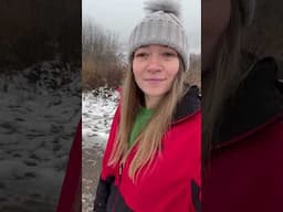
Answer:
M201 70L211 68L230 22L231 0L201 1Z

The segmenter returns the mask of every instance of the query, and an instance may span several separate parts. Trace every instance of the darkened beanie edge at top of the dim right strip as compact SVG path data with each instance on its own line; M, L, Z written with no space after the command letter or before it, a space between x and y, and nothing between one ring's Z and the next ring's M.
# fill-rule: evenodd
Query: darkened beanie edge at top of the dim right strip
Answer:
M250 25L254 17L255 0L240 0L240 10L243 15L243 25Z

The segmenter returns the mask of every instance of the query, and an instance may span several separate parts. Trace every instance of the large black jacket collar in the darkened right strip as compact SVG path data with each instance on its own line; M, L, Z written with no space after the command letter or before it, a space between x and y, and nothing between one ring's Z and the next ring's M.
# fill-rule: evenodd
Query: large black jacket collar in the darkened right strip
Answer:
M250 67L237 94L226 104L219 135L213 136L214 147L242 140L282 114L282 94L274 84L276 72L272 57L259 60Z

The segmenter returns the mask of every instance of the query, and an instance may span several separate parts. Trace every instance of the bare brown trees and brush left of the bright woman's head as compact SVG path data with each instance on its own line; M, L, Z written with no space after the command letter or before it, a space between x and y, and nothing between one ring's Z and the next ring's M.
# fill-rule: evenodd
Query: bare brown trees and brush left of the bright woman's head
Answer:
M83 89L98 86L117 87L124 65L118 54L118 36L91 20L83 22Z

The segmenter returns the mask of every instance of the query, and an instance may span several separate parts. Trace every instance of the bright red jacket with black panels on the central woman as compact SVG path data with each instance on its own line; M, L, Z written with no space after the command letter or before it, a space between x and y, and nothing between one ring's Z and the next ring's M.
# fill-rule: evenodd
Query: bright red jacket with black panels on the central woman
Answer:
M103 159L94 211L192 212L200 208L201 116L197 95L192 87L178 105L172 127L163 140L161 157L156 156L154 168L145 178L139 177L136 186L127 174L136 148L122 172L118 165L107 166L119 121L117 109Z

